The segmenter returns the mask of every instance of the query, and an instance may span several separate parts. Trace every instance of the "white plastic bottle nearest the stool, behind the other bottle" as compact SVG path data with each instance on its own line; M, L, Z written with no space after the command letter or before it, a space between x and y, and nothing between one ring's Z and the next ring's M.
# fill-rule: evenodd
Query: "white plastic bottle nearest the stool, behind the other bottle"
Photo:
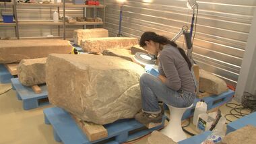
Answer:
M197 105L195 106L195 112L193 116L193 124L197 125L199 114L206 114L207 111L207 104L201 100L200 102L197 102Z

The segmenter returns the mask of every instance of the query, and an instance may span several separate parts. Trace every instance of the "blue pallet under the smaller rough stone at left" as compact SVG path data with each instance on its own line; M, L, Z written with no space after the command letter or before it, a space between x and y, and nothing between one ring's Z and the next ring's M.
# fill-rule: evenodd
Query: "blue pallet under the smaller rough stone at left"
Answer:
M27 87L20 83L18 78L12 78L11 84L16 90L18 100L22 100L24 110L38 108L49 104L48 92L46 85L38 85L42 89L42 93L35 94L32 87Z

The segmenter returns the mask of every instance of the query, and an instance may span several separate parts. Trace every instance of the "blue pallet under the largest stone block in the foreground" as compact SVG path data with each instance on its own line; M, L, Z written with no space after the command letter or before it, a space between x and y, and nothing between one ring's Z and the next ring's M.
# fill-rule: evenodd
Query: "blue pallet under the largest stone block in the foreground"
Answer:
M104 125L104 128L108 131L108 137L91 142L88 140L84 132L77 126L75 120L73 120L68 112L58 107L44 109L45 124L51 124L53 126L53 135L55 140L59 142L62 141L65 144L102 143L108 139L110 139L108 143L123 143L162 128L164 126L165 119L166 116L163 117L162 124L158 127L143 129L131 134L129 134L129 132L141 129L144 125L137 122L134 118L117 120L111 124Z

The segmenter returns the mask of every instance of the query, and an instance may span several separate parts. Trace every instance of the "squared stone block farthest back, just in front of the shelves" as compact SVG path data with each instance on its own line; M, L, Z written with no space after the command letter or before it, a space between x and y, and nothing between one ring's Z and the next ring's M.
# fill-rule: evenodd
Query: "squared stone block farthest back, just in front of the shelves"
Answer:
M73 40L75 44L81 46L81 40L84 41L87 38L104 38L108 37L108 30L104 28L92 28L92 29L79 29L73 33Z

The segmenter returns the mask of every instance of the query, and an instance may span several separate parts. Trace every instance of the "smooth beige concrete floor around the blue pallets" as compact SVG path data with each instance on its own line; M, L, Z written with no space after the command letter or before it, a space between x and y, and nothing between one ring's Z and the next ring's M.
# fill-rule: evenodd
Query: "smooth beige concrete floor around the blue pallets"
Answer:
M0 86L0 89L1 88L2 87ZM15 91L11 89L5 94L1 94L0 144L57 143L53 138L53 128L51 125L44 124L42 110L48 107L51 107L51 105L33 110L23 110L22 102L15 96ZM220 107L220 110L222 110L222 114L224 115L229 112L230 108L222 106ZM234 118L230 119L234 120ZM187 124L187 122L184 124ZM190 124L186 129L192 133L196 133L193 124ZM144 137L135 143L146 143L147 137ZM188 137L190 136L188 135Z

